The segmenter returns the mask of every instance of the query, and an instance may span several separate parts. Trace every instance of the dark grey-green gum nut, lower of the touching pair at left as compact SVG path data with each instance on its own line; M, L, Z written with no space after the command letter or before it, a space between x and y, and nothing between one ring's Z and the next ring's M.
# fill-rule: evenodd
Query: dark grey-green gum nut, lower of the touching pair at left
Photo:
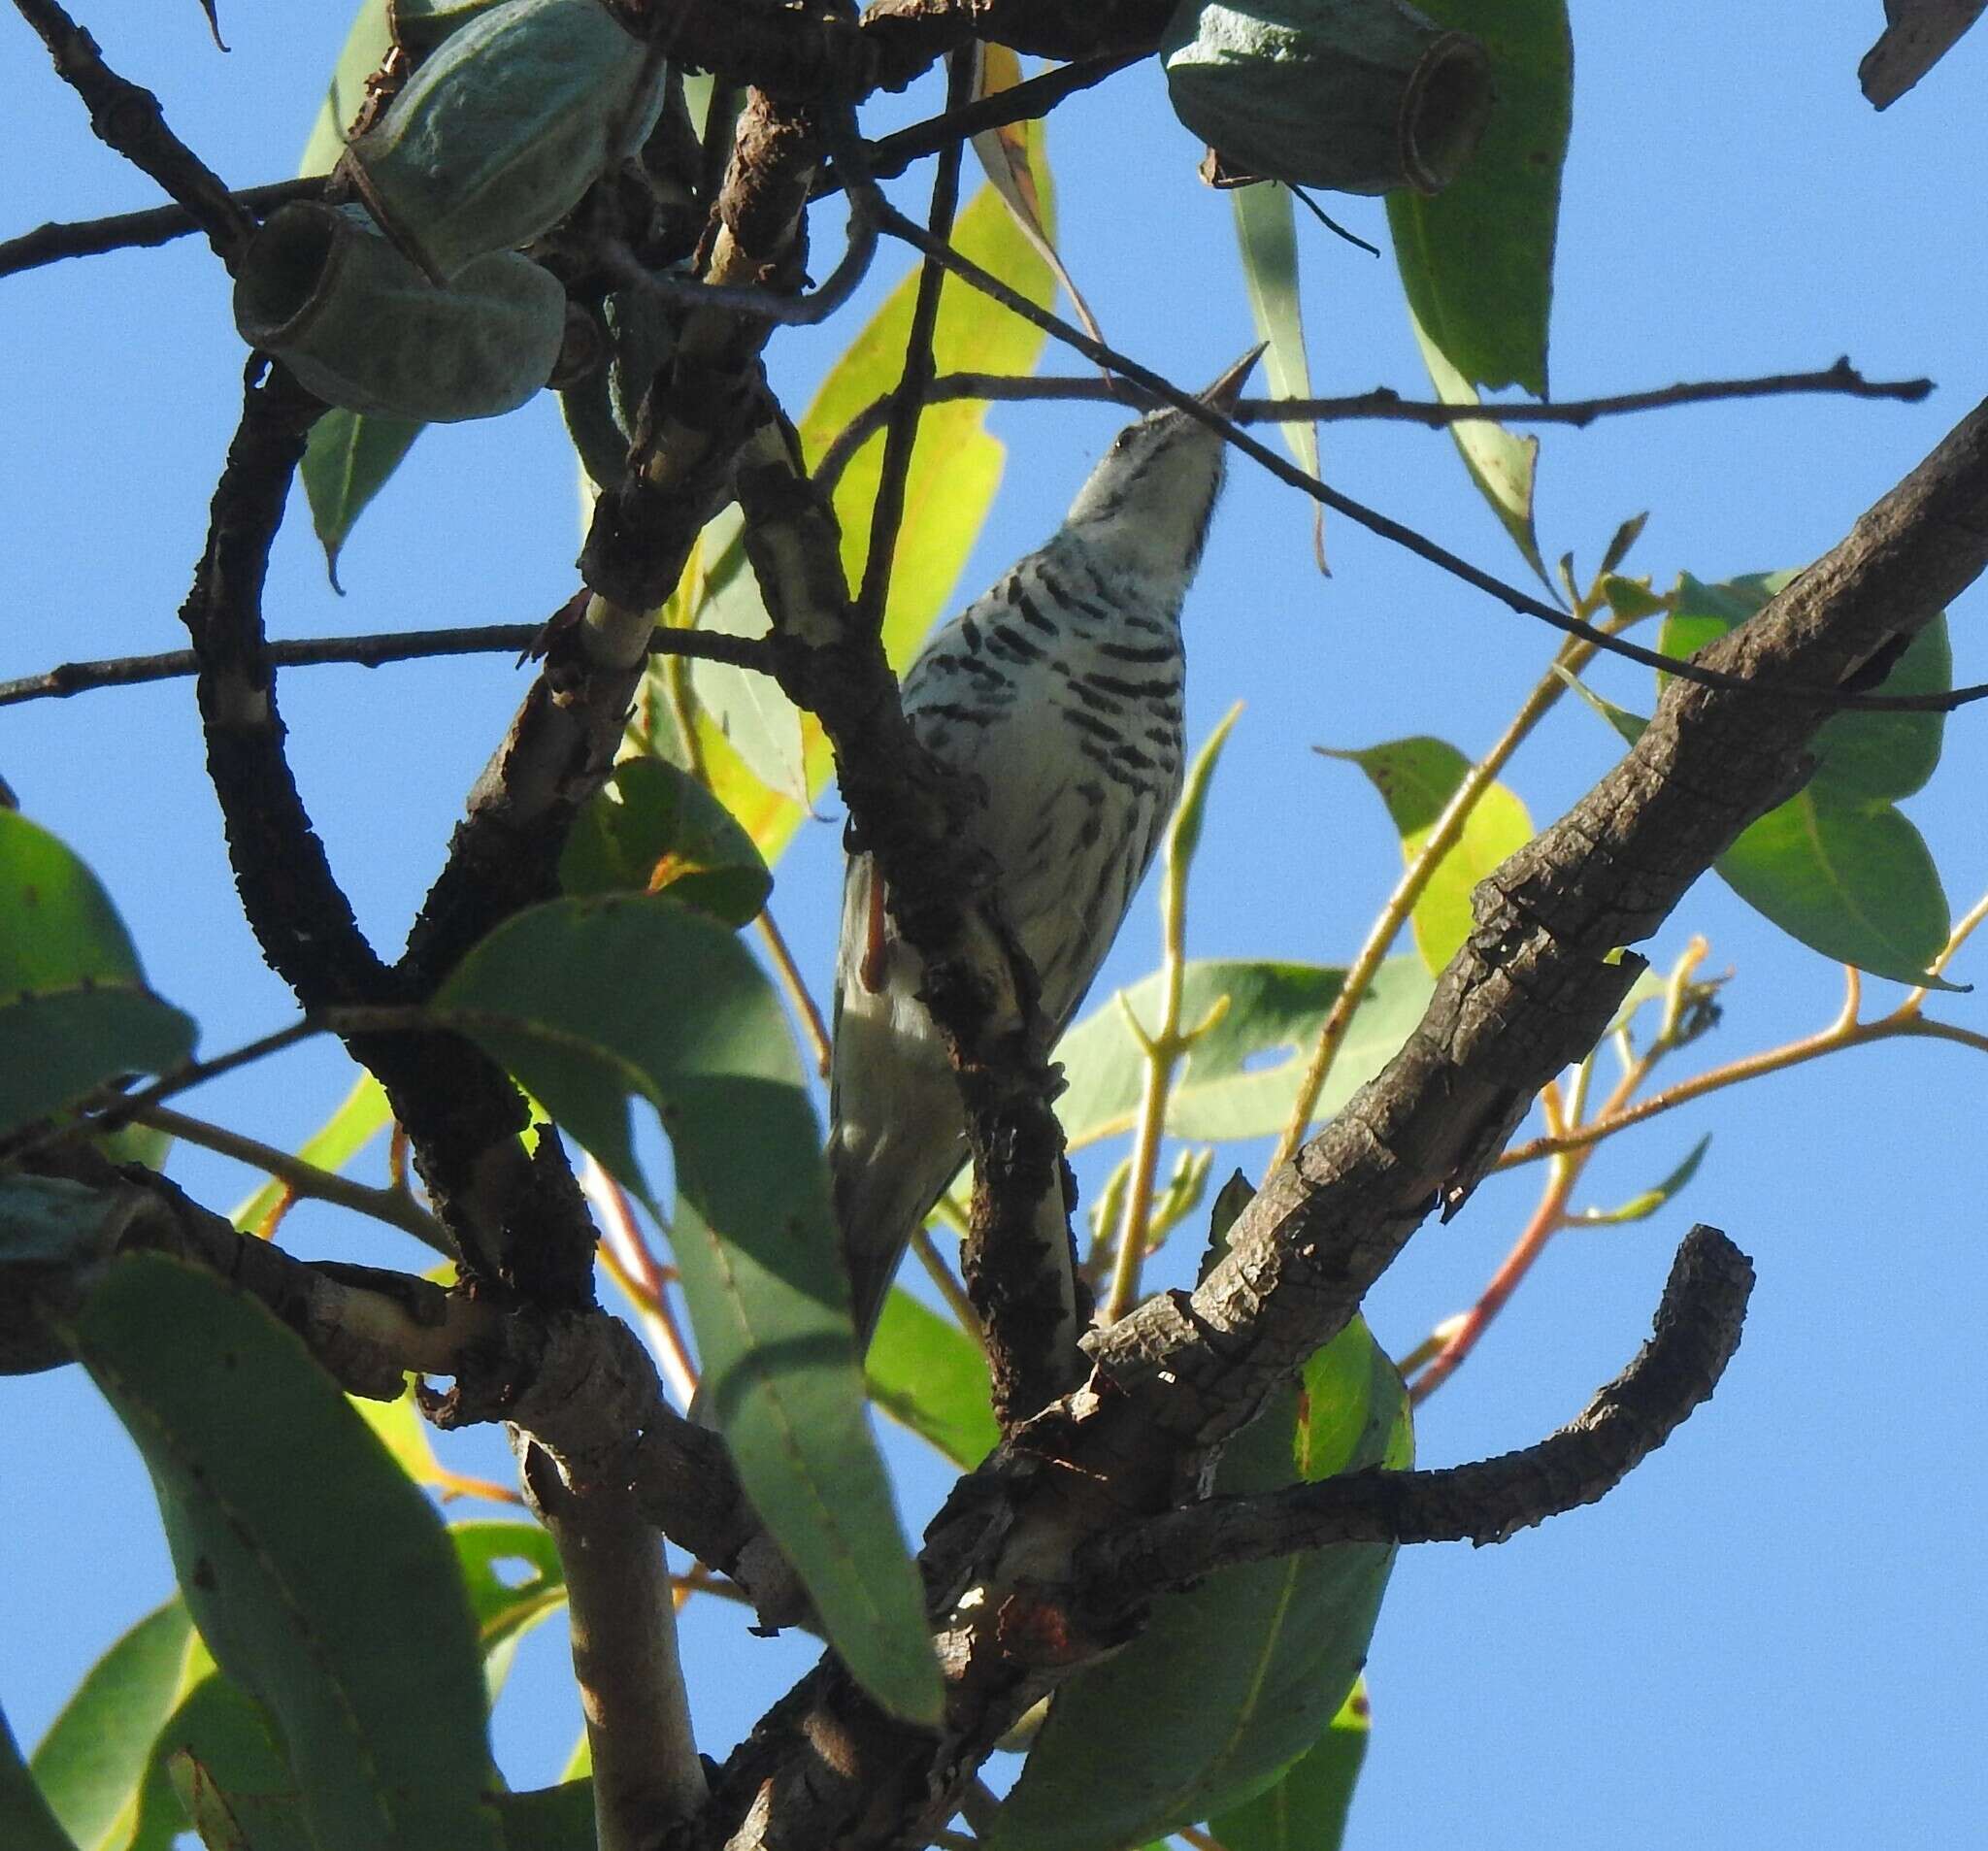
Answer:
M437 286L362 207L300 203L250 241L235 326L330 406L455 423L511 412L545 386L567 292L513 251Z

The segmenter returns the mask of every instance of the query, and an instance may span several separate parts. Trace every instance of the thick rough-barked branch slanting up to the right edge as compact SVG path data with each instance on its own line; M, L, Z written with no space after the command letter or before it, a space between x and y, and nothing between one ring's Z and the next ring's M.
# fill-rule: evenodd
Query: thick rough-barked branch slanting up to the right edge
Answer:
M1833 686L1988 565L1988 404L1751 622L1702 650L1741 680ZM1408 1046L1231 1233L1193 1300L1097 1338L1181 1439L1246 1420L1338 1332L1421 1219L1455 1213L1533 1095L1594 1044L1692 881L1807 775L1827 704L1672 682L1636 748L1475 893L1477 926Z

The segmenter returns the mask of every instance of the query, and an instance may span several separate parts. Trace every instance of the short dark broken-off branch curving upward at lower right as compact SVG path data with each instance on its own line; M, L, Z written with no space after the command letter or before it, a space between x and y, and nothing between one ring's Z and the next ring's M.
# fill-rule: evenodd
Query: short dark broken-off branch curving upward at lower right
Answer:
M1103 1614L1211 1569L1332 1543L1503 1543L1612 1491L1712 1396L1740 1348L1753 1262L1718 1229L1678 1249L1656 1328L1580 1416L1523 1451L1443 1471L1366 1469L1260 1497L1213 1497L1091 1543Z

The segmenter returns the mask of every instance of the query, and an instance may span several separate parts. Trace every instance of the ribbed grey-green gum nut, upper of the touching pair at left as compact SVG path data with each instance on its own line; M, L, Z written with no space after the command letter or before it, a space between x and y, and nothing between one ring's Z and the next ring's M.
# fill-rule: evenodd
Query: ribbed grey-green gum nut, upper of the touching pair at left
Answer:
M505 0L421 60L340 173L408 256L449 280L551 231L640 147L660 78L600 0Z

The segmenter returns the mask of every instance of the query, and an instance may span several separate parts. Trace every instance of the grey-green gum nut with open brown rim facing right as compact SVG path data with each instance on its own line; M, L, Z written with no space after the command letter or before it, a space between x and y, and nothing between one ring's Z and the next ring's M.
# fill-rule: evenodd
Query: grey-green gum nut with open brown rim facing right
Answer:
M1491 60L1400 0L1183 0L1173 113L1223 165L1338 193L1439 193L1491 113Z

